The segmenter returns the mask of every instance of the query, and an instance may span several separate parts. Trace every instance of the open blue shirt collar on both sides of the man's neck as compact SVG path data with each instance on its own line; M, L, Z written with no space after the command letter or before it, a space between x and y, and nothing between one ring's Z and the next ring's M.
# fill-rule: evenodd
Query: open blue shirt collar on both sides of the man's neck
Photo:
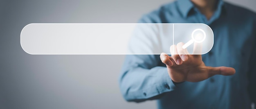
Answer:
M218 0L217 9L216 9L218 14L221 13L220 11L222 11L223 4L224 4L223 0ZM177 0L177 6L179 7L183 17L187 17L189 14L189 11L192 8L195 8L194 4L190 0Z

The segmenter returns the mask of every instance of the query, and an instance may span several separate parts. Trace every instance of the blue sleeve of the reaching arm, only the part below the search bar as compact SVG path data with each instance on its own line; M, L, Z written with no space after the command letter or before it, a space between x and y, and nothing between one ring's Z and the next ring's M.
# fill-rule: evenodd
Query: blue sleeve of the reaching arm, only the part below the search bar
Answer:
M126 55L119 83L127 101L157 99L175 89L166 67L157 66L159 60L159 55Z

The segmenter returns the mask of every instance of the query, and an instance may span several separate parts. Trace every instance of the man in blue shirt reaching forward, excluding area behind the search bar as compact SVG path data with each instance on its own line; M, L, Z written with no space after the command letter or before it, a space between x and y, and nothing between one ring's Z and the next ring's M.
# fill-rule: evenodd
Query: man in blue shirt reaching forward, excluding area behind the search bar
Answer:
M139 23L204 23L214 45L203 55L126 55L119 79L126 100L157 99L159 109L250 109L256 102L255 13L222 0L177 0Z

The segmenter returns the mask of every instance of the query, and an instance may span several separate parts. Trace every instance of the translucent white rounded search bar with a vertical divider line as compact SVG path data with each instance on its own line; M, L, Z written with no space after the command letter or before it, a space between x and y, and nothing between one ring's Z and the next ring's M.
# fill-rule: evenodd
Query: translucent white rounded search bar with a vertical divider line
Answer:
M184 54L205 54L213 47L206 24L28 24L20 33L29 54L170 54L182 42ZM179 45L179 44L178 44Z

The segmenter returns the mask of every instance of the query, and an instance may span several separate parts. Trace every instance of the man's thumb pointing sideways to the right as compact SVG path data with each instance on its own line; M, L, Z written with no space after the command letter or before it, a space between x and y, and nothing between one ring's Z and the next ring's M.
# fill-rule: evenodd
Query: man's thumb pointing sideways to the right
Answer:
M233 75L236 73L236 70L234 68L230 67L209 67L209 77L214 76L216 74L224 75L224 76L229 76Z

